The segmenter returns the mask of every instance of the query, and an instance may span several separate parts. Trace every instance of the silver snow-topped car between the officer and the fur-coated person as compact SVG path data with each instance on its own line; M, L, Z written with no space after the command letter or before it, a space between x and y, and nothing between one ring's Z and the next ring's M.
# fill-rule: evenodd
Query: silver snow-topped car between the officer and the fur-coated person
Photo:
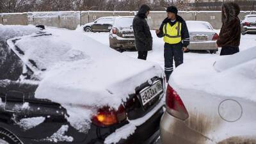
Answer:
M218 51L216 40L218 40L219 36L209 22L187 20L186 24L189 31L189 49L208 50L211 53Z

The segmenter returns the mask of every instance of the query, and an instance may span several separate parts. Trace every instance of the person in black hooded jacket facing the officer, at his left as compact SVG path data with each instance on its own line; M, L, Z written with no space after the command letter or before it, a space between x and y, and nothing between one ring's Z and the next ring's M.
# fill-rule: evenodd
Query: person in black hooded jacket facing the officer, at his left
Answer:
M146 20L149 12L150 8L143 4L132 22L138 59L141 60L147 60L148 51L152 51L152 35Z

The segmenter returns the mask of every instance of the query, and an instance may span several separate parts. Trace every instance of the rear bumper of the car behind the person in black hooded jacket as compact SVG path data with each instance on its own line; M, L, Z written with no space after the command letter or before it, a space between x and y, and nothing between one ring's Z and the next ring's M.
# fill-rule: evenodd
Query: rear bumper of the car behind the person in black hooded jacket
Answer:
M120 49L134 49L135 48L135 40L133 38L118 38L117 36L110 36L109 43L113 48Z

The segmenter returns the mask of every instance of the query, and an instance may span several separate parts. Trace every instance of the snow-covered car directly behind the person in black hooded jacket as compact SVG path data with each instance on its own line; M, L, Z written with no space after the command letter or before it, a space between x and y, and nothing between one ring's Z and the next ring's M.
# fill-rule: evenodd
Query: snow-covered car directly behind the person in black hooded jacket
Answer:
M135 49L133 19L134 16L116 17L109 33L109 47L121 51Z

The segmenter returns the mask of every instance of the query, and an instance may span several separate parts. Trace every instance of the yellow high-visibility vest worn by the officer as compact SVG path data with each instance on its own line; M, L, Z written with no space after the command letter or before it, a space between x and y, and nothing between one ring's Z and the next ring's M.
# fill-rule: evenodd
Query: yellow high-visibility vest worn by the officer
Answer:
M164 24L163 27L164 32L164 42L168 44L178 44L181 42L181 23L176 22L173 26L171 26L168 22Z

